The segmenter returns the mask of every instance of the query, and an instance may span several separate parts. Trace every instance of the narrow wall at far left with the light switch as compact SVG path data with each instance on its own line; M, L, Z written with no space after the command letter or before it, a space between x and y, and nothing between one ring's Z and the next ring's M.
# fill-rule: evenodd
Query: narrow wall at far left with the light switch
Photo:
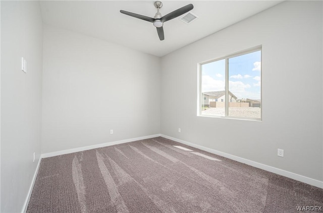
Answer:
M21 57L27 60L27 74ZM20 212L41 137L42 20L38 2L1 2L1 212ZM33 153L36 160L33 162Z

